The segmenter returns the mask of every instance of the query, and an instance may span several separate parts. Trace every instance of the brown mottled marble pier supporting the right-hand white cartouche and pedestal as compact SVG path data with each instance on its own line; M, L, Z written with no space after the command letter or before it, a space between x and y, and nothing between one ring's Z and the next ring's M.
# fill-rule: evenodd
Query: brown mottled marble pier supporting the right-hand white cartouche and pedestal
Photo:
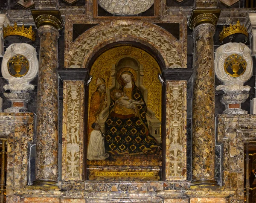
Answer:
M244 142L256 141L256 115L218 116L218 142L223 144L223 185L244 200Z

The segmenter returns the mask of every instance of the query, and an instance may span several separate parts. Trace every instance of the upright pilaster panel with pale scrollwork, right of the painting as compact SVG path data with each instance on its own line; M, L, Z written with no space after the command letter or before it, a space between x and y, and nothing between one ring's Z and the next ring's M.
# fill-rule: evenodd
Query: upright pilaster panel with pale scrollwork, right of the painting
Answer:
M166 84L166 180L186 180L186 81Z

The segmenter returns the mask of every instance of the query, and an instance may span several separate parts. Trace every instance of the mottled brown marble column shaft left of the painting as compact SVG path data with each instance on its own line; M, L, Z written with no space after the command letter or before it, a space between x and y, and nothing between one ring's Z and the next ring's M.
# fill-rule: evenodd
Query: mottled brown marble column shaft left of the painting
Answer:
M40 16L39 16L40 17ZM35 20L35 23L37 20ZM45 20L47 22L47 20ZM58 183L58 27L38 25L40 40L37 142L33 185Z

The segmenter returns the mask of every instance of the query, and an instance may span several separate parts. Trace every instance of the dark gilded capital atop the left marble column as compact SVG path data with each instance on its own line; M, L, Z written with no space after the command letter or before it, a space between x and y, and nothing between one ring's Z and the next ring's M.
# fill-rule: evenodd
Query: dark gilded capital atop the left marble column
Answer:
M31 12L38 29L45 25L52 26L57 30L62 29L63 21L58 10L32 10Z

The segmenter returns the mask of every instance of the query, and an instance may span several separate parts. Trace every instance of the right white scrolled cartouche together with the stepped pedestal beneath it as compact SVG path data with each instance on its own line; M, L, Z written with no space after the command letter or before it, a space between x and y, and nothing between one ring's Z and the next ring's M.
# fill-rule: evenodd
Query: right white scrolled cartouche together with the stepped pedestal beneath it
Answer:
M240 109L241 103L249 96L250 86L244 86L244 82L248 81L252 74L252 58L251 50L242 43L227 43L224 44L215 52L215 74L224 83L218 85L216 90L223 90L224 95L221 97L221 103L225 104L224 114L247 114L247 111ZM246 64L245 71L242 74L230 75L225 70L226 61L231 55L237 55ZM241 61L241 60L240 60ZM236 60L232 60L232 68L236 69L238 63ZM233 105L236 104L236 105Z

